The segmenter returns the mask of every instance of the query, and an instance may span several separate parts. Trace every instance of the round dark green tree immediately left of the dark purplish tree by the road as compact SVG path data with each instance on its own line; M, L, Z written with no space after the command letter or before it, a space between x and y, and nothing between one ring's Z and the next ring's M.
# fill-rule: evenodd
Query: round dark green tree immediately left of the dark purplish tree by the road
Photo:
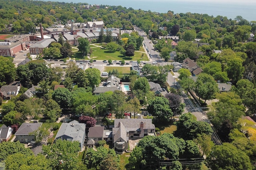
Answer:
M169 107L169 101L164 97L156 97L148 104L148 113L156 116L161 121L169 121L172 117L172 109Z

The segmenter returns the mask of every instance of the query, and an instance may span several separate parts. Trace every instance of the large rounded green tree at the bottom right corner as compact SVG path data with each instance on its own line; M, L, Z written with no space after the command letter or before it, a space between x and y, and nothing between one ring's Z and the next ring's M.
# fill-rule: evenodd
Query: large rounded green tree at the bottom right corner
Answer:
M213 147L206 161L209 168L216 170L252 170L249 157L240 149L236 149L236 147L229 143Z

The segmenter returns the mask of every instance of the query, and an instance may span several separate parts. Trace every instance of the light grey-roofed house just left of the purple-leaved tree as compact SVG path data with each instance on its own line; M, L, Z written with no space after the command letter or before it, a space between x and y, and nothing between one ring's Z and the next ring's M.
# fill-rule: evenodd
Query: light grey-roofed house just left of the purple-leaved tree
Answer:
M62 123L55 140L78 141L80 142L80 148L82 150L85 140L85 129L86 125L84 123L79 123L76 120L71 121L70 123Z

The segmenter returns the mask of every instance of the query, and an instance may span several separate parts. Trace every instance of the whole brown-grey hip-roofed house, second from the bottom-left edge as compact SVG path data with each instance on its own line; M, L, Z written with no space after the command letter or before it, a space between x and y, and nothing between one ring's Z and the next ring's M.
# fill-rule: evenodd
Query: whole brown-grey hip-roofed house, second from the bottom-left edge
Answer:
M22 123L18 131L15 133L15 141L20 141L20 143L29 143L34 141L35 136L32 135L34 131L37 131L42 123Z

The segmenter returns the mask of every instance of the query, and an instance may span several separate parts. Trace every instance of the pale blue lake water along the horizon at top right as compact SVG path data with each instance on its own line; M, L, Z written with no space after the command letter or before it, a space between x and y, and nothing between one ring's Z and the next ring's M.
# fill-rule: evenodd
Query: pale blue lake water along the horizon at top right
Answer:
M152 12L166 13L168 10L177 13L199 13L210 16L226 16L234 19L242 16L248 21L256 21L255 0L52 0L60 2L88 3L110 6L123 6L135 10L150 10Z

